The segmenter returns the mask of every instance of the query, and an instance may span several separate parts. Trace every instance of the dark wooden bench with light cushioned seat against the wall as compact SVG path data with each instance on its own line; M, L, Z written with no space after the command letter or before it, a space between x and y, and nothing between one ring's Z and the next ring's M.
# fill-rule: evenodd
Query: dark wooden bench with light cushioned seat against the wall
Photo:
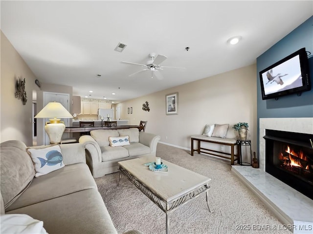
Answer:
M198 141L198 149L194 149L195 140ZM231 153L202 148L201 142L208 142L208 143L215 143L215 144L230 146ZM238 149L237 149L237 154L235 155L235 145L237 145L237 140L232 139L232 138L206 137L203 135L194 135L194 136L191 136L191 156L194 156L194 152L196 151L198 152L198 154L204 153L204 154L210 154L210 155L230 159L231 165L234 165L235 160L237 160L237 162L240 163L240 157L238 156ZM219 155L215 153L219 153Z

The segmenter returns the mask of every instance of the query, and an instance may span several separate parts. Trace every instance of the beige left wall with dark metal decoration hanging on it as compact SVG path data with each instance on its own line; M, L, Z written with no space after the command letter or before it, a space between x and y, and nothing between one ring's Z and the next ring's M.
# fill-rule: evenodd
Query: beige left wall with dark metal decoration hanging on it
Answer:
M35 75L1 31L1 78L0 78L0 142L18 139L32 145L32 91L39 90ZM15 98L18 78L26 81L26 105Z

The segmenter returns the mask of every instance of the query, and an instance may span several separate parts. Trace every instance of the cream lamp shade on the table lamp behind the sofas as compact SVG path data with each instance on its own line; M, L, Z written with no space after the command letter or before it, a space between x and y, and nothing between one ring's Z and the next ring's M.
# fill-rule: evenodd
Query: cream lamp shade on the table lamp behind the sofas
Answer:
M60 102L49 102L35 118L72 118L73 116Z

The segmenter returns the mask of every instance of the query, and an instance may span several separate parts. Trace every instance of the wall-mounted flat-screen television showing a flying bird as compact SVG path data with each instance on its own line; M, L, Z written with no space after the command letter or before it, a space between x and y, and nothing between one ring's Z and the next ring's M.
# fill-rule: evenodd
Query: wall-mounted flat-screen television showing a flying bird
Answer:
M292 53L260 72L262 99L311 90L309 59L305 48Z

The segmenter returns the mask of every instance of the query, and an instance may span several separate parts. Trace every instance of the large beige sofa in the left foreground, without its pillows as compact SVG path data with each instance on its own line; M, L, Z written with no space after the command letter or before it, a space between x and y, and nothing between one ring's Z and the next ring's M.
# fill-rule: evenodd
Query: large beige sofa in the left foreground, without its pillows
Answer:
M49 234L117 233L86 164L84 146L75 143L60 148L65 166L34 177L34 165L26 145L18 140L1 143L2 233L7 224L5 217L10 214L29 215L43 221ZM20 220L21 216L14 222Z

